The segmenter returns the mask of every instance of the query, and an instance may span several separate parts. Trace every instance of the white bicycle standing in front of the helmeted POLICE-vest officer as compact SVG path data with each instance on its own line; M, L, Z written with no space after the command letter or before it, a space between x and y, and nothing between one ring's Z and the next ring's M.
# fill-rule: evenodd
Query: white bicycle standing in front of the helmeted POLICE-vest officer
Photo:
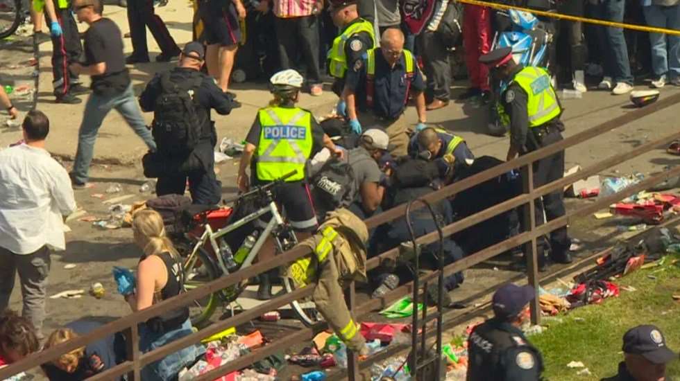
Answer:
M237 221L229 221L226 227L217 229L213 231L213 228L209 223L203 224L203 233L200 237L189 235L188 238L194 240L193 248L184 260L183 271L185 275L185 290L192 290L196 287L201 287L204 283L212 281L219 276L231 274L232 272L238 271L239 269L244 269L250 266L255 260L255 257L259 253L262 245L267 238L273 237L276 242L276 249L278 253L282 253L288 249L291 249L297 245L298 240L295 236L294 231L289 224L284 222L281 214L278 211L278 206L276 206L273 201L272 190L284 183L284 180L295 174L290 172L284 175L280 179L276 179L269 184L264 186L257 186L253 190L243 193L230 201L224 201L223 204L229 204L231 202L243 202L248 199L255 199L260 202L263 206L257 211L249 213L244 218L240 218ZM264 231L260 233L252 249L243 260L243 263L238 265L237 268L228 269L225 262L225 257L229 254L223 252L226 250L232 251L225 240L225 236L241 227L244 227L250 222L254 222L262 215L271 213L271 220L266 224ZM207 246L210 244L209 246ZM208 249L210 249L210 251ZM211 252L212 251L212 252ZM235 252L235 251L232 251ZM281 278L282 284L284 286L285 292L292 292L295 290L293 281L287 277ZM229 305L239 297L241 292L246 288L247 282L241 282L237 285L232 285L226 289L220 290L219 292L214 292L207 297L207 299L194 301L196 308L198 308L198 314L192 315L192 324L199 326L214 314L218 305ZM291 309L296 313L298 319L303 322L306 326L312 326L316 322L321 320L321 314L318 314L314 308L303 308L298 301L294 301L291 304Z

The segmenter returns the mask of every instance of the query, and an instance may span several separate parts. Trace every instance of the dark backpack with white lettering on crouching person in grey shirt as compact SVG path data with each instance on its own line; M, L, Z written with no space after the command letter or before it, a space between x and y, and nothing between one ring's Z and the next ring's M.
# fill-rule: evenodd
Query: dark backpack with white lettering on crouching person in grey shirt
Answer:
M357 197L357 181L347 159L328 159L309 181L317 214L325 216L352 204Z

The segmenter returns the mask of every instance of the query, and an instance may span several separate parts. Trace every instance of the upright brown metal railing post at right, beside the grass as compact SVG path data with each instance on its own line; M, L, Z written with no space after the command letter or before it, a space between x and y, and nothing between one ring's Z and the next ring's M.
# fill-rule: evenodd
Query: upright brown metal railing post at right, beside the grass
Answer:
M529 163L522 167L522 192L529 195L534 194L534 170L533 163ZM536 229L536 200L532 200L522 208L522 218L526 231L534 231ZM536 238L524 245L525 258L527 260L527 276L529 278L529 285L534 287L536 297L529 303L529 308L532 312L532 324L541 324L541 305L538 301L538 247L536 245ZM543 253L541 253L543 255Z

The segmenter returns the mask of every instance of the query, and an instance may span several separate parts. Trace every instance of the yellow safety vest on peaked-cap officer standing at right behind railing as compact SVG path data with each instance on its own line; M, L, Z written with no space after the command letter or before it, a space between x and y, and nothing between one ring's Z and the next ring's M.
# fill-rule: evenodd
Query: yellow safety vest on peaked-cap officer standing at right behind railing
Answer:
M557 94L550 84L550 75L540 67L525 67L511 80L527 92L529 127L543 125L561 114Z

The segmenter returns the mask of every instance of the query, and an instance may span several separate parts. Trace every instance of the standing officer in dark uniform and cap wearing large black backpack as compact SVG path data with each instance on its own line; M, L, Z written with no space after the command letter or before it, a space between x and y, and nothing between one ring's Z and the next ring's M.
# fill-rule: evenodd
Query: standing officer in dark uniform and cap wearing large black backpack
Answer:
M153 139L158 152L144 160L144 175L158 177L156 194L183 195L187 179L194 204L217 204L221 183L214 172L217 134L210 109L226 115L230 98L212 77L201 73L203 45L189 42L178 67L156 75L139 96L145 112L153 111Z

